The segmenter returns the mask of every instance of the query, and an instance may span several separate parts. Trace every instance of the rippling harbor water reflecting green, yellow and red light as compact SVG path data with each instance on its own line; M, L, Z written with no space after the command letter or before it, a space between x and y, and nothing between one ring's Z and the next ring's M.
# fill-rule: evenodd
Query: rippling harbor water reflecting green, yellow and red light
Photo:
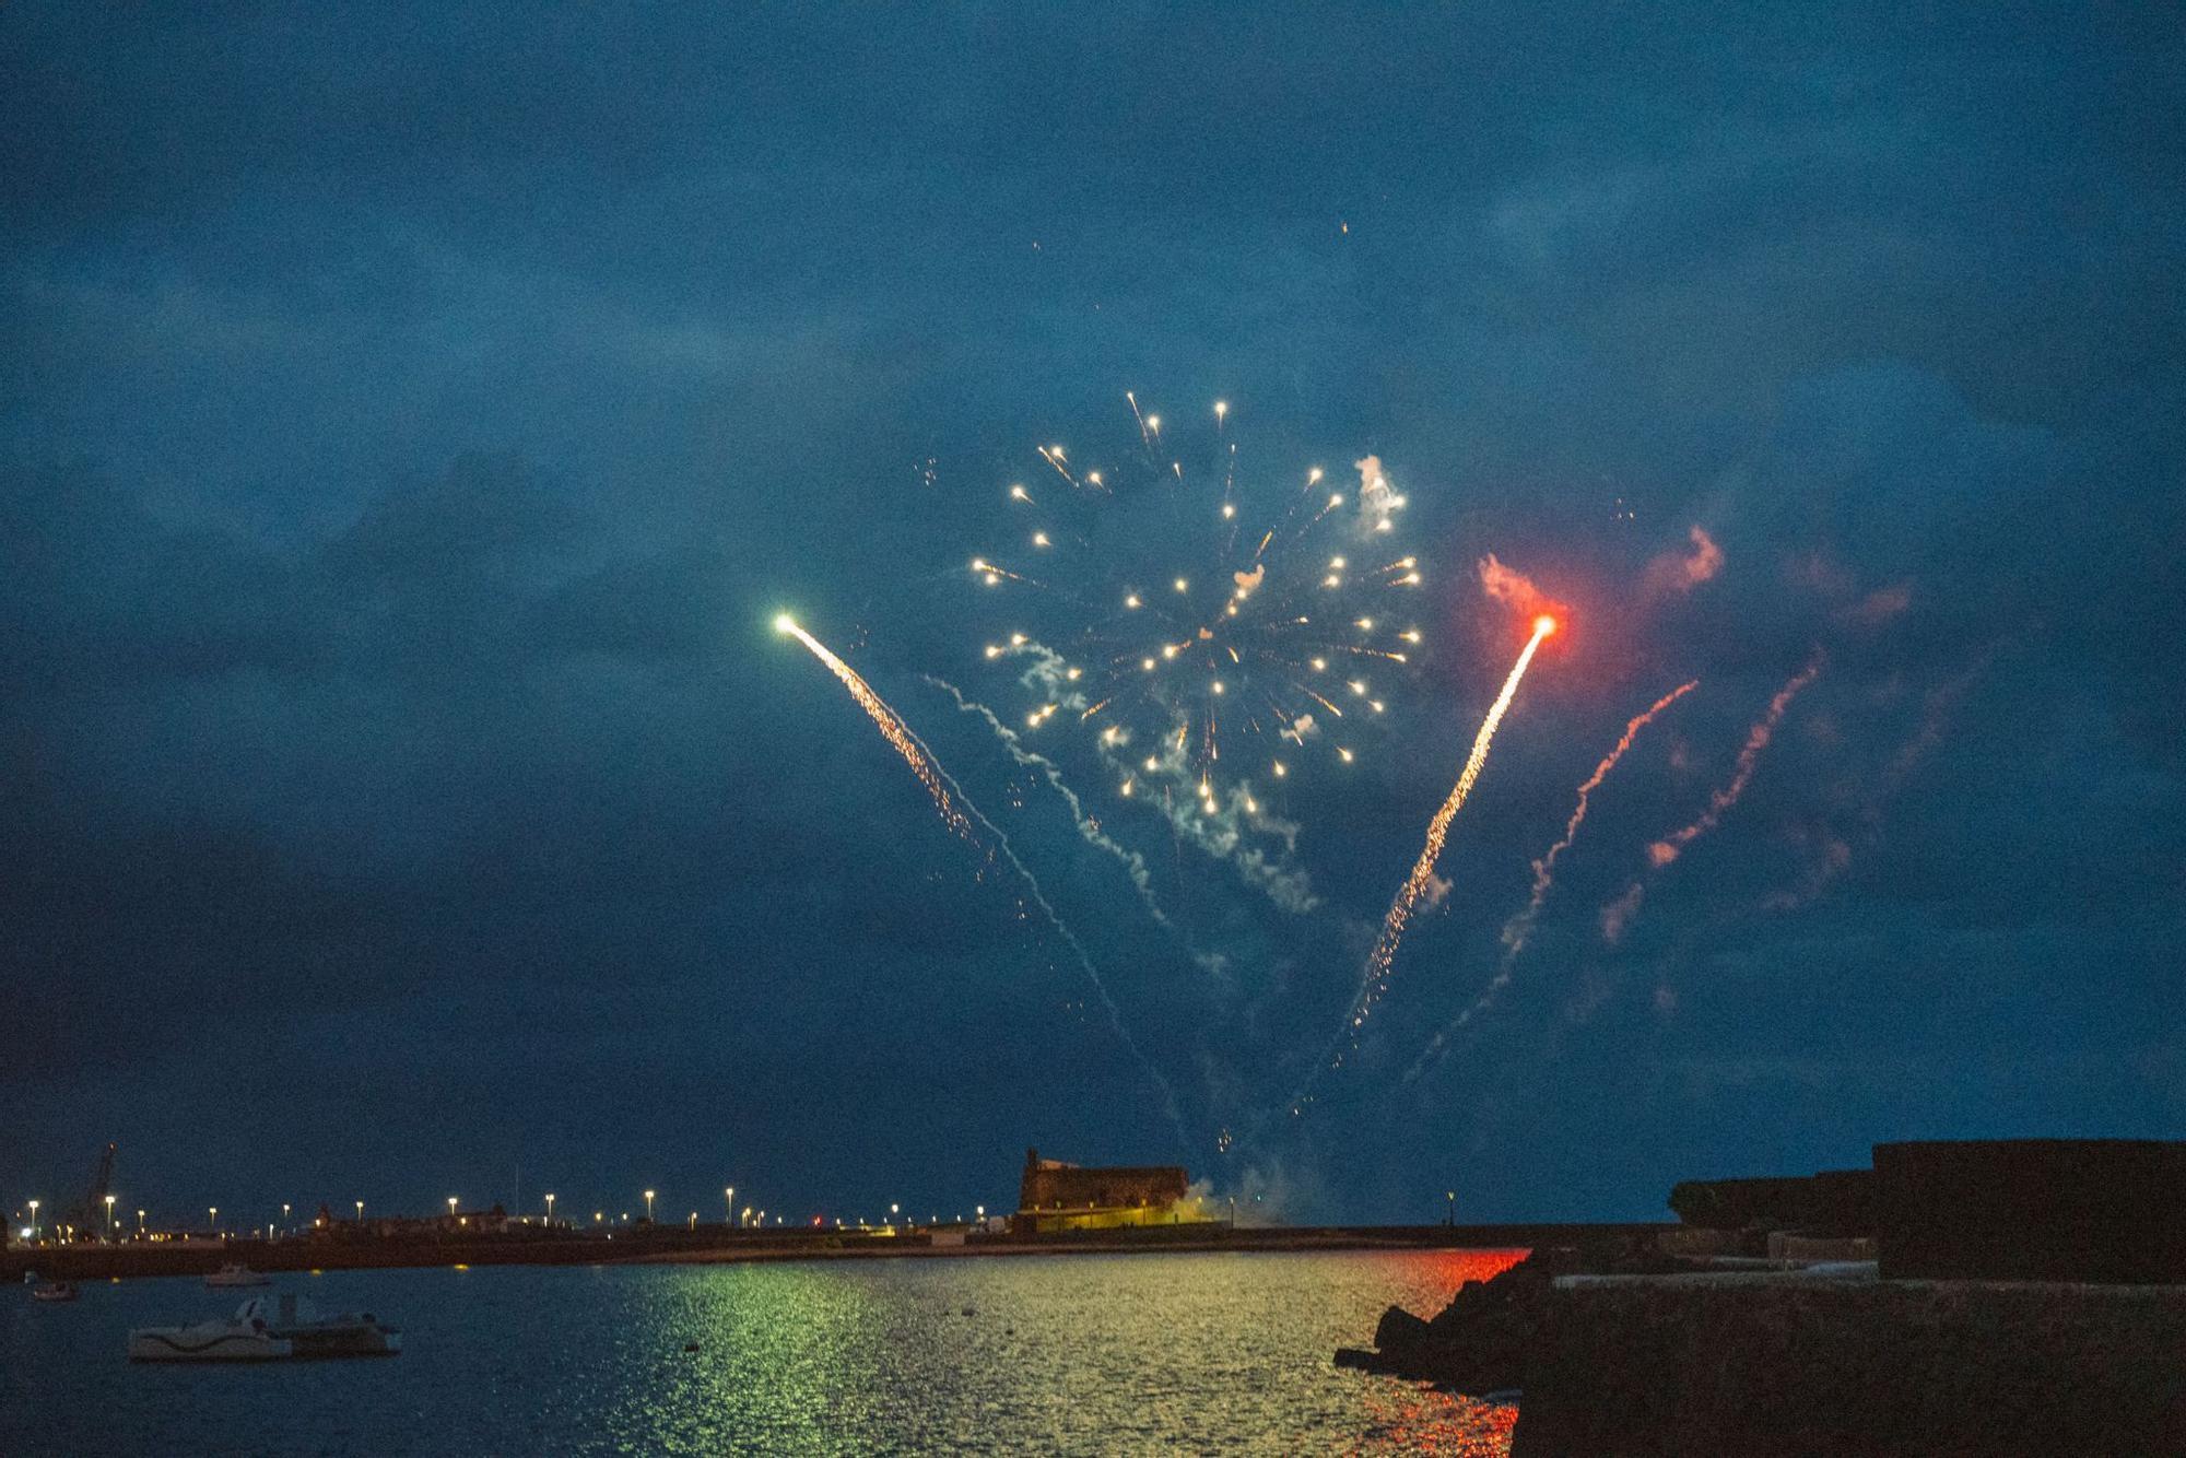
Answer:
M0 1301L0 1454L1506 1454L1513 1408L1338 1371L1519 1253L498 1266L275 1277L402 1355L131 1366L195 1279Z

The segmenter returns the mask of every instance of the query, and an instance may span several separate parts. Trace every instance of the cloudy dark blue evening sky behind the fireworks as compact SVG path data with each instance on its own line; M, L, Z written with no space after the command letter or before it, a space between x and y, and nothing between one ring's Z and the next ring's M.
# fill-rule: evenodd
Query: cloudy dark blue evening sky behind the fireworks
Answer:
M118 1139L177 1215L516 1165L953 1213L1038 1143L1292 1218L1653 1218L2186 1134L2175 13L1058 9L0 11L0 1204ZM922 680L1021 708L962 564L1124 389L1410 496L1434 647L1285 800L1309 912L1058 748L1165 931ZM1716 577L1650 592L1696 525ZM1508 667L1486 553L1574 632L1290 1119ZM1008 833L1187 1148L780 605Z

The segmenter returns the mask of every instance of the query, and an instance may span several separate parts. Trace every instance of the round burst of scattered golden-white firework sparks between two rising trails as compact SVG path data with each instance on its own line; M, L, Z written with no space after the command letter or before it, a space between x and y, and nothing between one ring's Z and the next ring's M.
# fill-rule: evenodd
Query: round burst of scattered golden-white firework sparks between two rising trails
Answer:
M1244 468L1226 402L1183 450L1126 400L1115 459L1038 446L1041 474L1001 487L968 564L1001 630L982 651L1016 671L1023 732L1082 732L1117 793L1250 822L1292 774L1353 765L1403 686L1425 579L1406 498L1377 457L1358 485Z

